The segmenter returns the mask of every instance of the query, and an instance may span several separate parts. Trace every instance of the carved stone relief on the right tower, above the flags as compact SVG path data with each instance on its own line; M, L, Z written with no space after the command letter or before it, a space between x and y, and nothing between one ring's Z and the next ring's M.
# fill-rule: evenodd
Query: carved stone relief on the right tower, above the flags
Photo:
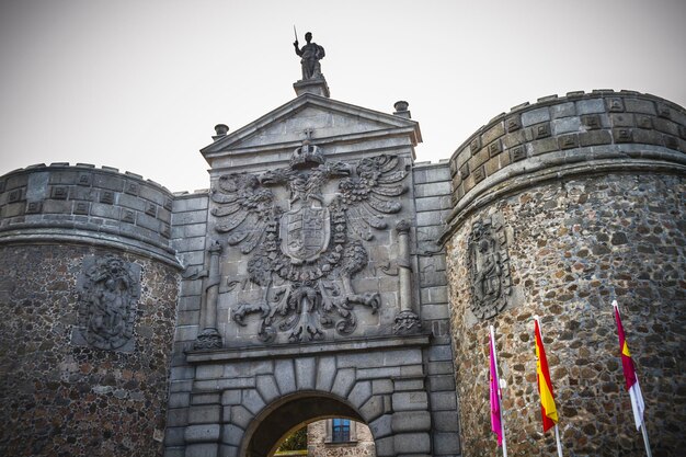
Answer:
M472 225L467 267L471 278L471 311L479 319L498 315L511 293L510 261L505 232L491 218Z

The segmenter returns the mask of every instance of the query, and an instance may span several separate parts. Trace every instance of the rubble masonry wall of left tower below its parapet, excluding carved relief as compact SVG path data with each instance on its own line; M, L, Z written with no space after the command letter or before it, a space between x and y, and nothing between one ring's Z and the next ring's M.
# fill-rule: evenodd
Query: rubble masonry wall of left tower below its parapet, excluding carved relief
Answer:
M71 344L83 260L141 267L132 353ZM0 454L162 455L178 271L79 244L0 245Z

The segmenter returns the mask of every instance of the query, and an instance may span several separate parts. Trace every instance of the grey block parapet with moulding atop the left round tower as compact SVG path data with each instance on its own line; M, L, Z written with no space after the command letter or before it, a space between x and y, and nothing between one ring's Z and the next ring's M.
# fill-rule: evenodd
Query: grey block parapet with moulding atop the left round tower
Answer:
M179 266L167 188L117 169L37 164L0 176L0 243L84 242Z

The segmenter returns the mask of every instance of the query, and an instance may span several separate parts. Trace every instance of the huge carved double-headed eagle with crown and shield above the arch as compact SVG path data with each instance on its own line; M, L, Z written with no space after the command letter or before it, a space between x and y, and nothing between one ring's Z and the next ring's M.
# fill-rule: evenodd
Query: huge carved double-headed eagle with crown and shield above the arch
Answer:
M216 230L251 254L250 281L264 290L260 301L239 304L233 320L245 325L245 317L259 312L264 342L279 331L291 342L320 339L325 328L352 333L355 305L373 312L380 305L378 293L357 294L352 285L368 262L363 240L400 210L393 199L407 191L405 175L397 156L328 162L308 135L287 168L220 176L211 192ZM338 192L325 195L322 187L334 180ZM288 202L276 201L274 186L288 190Z

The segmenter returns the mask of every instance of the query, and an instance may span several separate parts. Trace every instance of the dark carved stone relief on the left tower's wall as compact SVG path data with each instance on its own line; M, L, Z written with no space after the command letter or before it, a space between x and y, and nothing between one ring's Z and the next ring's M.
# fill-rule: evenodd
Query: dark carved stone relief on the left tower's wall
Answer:
M77 289L78 324L71 342L107 351L133 352L140 266L112 254L85 258Z

